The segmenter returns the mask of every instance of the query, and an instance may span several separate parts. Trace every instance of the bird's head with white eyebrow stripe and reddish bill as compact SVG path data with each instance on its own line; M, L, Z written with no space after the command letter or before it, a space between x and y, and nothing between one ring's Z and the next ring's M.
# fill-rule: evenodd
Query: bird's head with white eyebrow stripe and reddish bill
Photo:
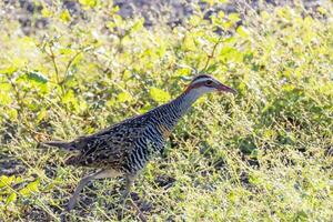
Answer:
M209 74L200 74L194 77L185 90L185 92L191 91L195 91L199 94L204 94L212 91L236 93L234 89L222 84L219 80Z

